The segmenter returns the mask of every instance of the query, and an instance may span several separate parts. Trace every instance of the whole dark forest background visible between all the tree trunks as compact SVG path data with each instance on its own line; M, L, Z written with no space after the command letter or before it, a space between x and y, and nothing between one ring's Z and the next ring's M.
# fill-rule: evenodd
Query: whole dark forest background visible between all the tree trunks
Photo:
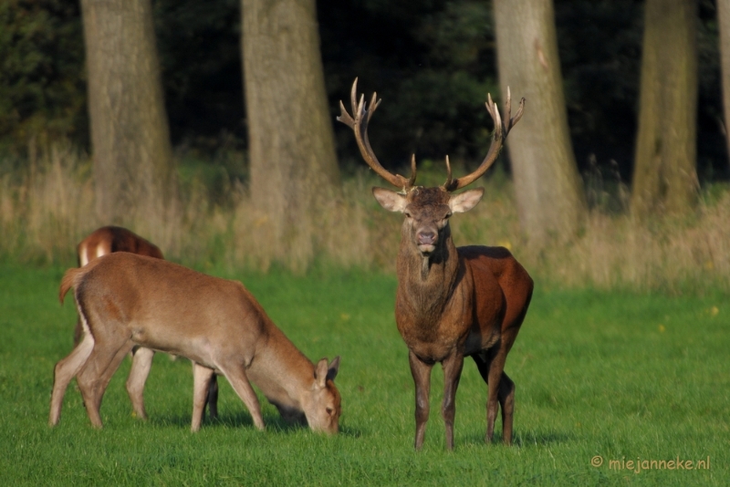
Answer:
M246 119L238 0L152 2L172 144L210 156L245 153ZM570 135L579 171L618 164L631 179L637 132L643 2L555 0ZM722 123L713 1L698 17L700 181L730 177ZM490 122L482 102L498 93L490 2L318 1L328 105L334 124L352 79L388 109L371 129L385 163L481 160ZM489 26L485 29L485 26ZM22 155L33 137L66 138L89 150L84 44L73 0L0 5L0 150ZM529 100L527 100L529 103ZM358 153L336 127L343 170ZM15 158L16 161L22 158ZM504 164L508 170L508 164ZM232 168L234 169L234 168ZM235 171L234 171L235 172Z

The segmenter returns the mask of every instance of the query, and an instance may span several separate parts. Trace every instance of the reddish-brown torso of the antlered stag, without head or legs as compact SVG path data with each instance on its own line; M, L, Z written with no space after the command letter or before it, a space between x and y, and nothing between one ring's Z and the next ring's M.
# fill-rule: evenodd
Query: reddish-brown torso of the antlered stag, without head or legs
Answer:
M504 247L451 250L454 265L432 264L428 279L399 282L396 296L401 337L416 357L432 363L490 350L500 340L511 344L532 295L530 276ZM407 266L404 260L399 269ZM420 263L412 264L415 272L399 275L419 275Z

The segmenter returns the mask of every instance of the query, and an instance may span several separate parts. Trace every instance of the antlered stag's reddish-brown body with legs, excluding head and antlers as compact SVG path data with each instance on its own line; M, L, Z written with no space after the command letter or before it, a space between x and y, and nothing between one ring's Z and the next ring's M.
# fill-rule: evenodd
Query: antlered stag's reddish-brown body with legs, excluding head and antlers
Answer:
M418 204L417 196L413 198ZM413 204L413 203L411 203ZM416 448L429 416L433 364L443 365L442 416L447 448L454 447L455 395L464 357L473 357L489 387L486 440L491 441L502 407L502 432L512 440L515 384L504 372L506 356L527 314L533 281L504 247L456 247L448 225L424 257L403 225L398 255L395 318L409 349L416 384ZM425 267L427 265L427 267Z

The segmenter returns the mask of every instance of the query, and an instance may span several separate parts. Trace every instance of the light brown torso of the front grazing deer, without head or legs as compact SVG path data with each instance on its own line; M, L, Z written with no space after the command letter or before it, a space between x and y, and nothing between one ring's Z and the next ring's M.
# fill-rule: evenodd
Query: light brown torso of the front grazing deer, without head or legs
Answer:
M70 269L61 292L69 285L92 335L97 326L114 326L138 345L209 368L216 354L250 361L273 326L240 283L143 255L113 253Z

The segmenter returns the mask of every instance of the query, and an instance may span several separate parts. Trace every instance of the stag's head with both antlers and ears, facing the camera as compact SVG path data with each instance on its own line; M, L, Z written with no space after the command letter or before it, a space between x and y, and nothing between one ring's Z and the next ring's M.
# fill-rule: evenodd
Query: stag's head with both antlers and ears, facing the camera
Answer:
M356 78L350 91L352 116L349 115L340 101L339 109L341 113L337 119L355 132L355 140L357 140L358 147L360 147L362 158L370 168L385 181L400 189L399 192L394 192L375 187L372 189L372 193L383 208L391 212L401 212L405 215L403 237L408 239L423 257L429 257L448 240L450 235L449 218L451 215L468 212L482 199L484 189L481 188L461 193L454 192L476 181L496 161L509 130L522 117L522 112L525 109L525 98L520 100L515 116L511 117L511 98L509 88L507 88L506 119L503 123L499 115L499 109L492 101L492 97L487 95L486 109L495 122L495 132L485 160L471 174L453 179L451 164L448 156L446 156L446 181L441 186L425 188L415 185L415 155L411 158L411 177L408 179L400 174L387 171L375 157L375 153L370 147L370 140L368 140L368 123L381 100L378 99L375 93L372 94L370 104L365 103L363 96L360 96L360 100L358 100L357 87L358 80Z

